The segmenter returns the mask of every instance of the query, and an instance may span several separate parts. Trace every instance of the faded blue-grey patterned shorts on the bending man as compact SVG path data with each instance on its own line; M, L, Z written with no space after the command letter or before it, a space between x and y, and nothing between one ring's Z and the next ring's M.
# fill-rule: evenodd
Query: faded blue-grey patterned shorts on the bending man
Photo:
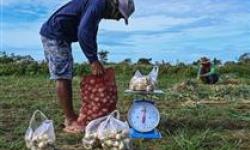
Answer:
M45 58L48 62L50 79L72 79L73 56L71 43L41 37Z

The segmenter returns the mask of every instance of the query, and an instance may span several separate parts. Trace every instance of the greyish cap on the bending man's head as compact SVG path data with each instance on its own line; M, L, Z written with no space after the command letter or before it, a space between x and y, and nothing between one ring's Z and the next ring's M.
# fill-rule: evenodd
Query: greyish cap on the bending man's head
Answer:
M135 11L134 0L119 0L119 11L125 19L125 23L128 24L128 18Z

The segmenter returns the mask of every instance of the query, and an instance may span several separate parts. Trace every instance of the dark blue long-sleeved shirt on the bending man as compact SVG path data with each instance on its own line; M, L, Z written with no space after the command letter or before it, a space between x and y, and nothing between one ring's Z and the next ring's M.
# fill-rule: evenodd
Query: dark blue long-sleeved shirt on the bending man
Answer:
M79 41L87 59L96 61L96 36L105 5L105 0L71 0L43 24L40 34L55 40Z

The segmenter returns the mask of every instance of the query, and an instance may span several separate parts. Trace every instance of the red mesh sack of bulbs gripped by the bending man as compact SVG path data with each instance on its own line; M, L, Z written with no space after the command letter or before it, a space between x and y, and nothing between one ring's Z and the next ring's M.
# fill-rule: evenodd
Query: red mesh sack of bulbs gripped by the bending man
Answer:
M80 84L82 107L78 122L82 126L99 117L106 116L116 109L117 86L115 72L105 69L103 76L85 76Z

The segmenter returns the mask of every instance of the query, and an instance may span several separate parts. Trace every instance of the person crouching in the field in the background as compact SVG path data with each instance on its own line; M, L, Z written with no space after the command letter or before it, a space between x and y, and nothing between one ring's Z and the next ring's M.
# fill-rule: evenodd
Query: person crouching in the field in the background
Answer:
M216 73L215 63L211 63L206 57L202 57L200 61L201 65L197 78L205 84L215 84L219 79L219 76Z

